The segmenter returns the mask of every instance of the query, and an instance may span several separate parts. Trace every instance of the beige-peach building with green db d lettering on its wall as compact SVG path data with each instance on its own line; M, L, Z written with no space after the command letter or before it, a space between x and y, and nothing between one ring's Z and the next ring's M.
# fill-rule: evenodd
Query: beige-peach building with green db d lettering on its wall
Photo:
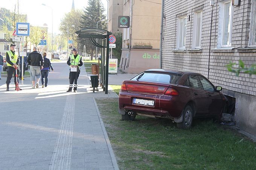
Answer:
M123 29L119 68L139 73L160 67L160 23L162 0L124 0L123 16L130 17L130 28Z

